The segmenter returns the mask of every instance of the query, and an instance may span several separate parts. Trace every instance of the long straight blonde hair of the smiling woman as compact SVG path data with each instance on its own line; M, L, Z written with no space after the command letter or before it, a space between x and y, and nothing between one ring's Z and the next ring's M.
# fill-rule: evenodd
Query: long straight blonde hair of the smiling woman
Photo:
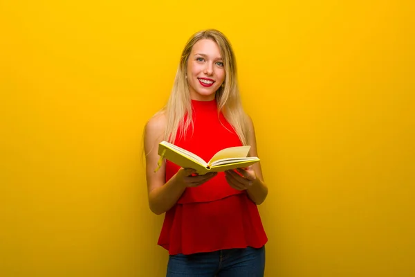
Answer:
M222 111L223 116L232 125L234 131L239 136L243 145L247 144L248 127L246 125L246 114L243 111L239 87L237 82L237 63L235 60L232 46L228 39L219 30L209 29L195 33L187 41L183 49L180 64L174 79L172 93L169 96L167 105L159 113L164 113L166 117L165 141L174 143L179 127L179 137L185 136L188 127L192 125L192 102L190 98L189 85L185 78L187 74L187 62L190 53L196 42L201 39L212 39L216 42L221 51L221 56L225 68L224 85L216 91L216 103L218 114ZM187 115L185 117L185 115Z

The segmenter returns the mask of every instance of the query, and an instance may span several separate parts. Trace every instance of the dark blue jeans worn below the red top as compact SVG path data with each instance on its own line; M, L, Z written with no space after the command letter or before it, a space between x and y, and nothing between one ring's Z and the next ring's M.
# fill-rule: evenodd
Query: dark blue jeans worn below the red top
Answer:
M263 277L265 247L171 255L167 277Z

